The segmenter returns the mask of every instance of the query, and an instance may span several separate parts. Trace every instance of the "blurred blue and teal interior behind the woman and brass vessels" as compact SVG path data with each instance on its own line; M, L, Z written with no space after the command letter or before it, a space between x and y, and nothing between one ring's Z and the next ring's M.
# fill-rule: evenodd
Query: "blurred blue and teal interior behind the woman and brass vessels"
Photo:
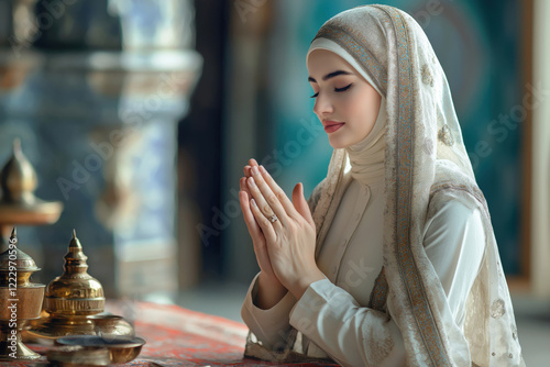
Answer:
M48 282L76 229L108 297L240 320L257 273L239 207L251 157L289 194L332 148L305 56L369 1L0 0L0 165L15 138L59 201L19 226ZM550 352L550 2L380 1L414 16L449 80L490 205L527 365ZM6 225L13 223L1 223ZM10 227L11 229L11 227ZM544 363L542 363L544 360Z

